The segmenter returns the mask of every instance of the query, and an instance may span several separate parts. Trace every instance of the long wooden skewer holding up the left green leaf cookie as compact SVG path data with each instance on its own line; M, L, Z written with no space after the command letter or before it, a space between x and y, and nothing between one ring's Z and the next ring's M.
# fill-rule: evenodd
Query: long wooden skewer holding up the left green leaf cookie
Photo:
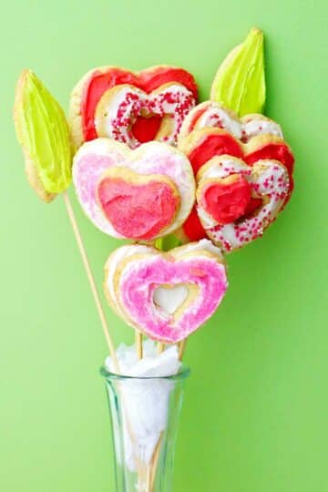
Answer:
M87 280L90 284L91 292L93 294L94 301L96 303L97 313L99 315L101 326L102 326L102 329L103 329L103 332L104 332L104 335L106 338L106 342L108 344L109 354L110 354L111 359L113 361L115 371L117 373L119 373L118 358L117 358L117 354L115 352L115 346L114 346L113 340L112 340L110 333L109 333L108 322L107 322L107 319L106 319L106 316L104 313L104 308L101 304L99 293L97 292L96 282L95 282L94 276L93 276L91 268L90 268L90 263L87 259L87 251L86 251L85 245L82 241L81 233L80 233L78 226L77 226L77 219L76 219L76 216L74 214L74 211L73 211L71 202L69 200L69 196L67 194L67 191L63 192L63 197L64 197L65 205L67 208L67 214L68 214L69 220L72 224L72 228L73 228L76 240L77 240L77 247L78 247L78 250L80 251L83 265L84 265L86 272L87 272Z

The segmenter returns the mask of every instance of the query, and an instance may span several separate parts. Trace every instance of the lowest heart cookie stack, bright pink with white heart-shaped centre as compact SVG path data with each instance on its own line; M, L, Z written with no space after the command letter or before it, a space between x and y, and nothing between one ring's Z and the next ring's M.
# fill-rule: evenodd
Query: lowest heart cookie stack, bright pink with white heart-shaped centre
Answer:
M215 312L228 288L220 249L202 240L170 250L123 246L108 258L109 304L154 340L176 343Z

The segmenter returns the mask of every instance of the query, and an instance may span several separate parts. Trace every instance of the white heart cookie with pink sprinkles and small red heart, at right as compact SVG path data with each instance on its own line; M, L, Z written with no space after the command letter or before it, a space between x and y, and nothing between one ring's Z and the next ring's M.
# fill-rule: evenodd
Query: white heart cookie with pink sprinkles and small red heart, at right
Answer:
M197 212L210 237L225 251L261 237L282 210L290 183L276 160L210 159L197 175Z

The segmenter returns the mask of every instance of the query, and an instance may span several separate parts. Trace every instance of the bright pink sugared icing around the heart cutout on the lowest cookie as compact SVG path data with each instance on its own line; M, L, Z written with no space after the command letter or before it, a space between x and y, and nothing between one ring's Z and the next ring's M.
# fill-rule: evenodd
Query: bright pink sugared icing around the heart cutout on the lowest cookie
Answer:
M193 283L199 295L177 321L164 315L153 302L159 285ZM227 291L225 267L205 256L169 261L152 256L133 261L122 273L120 295L128 316L149 337L166 343L176 343L197 330L220 305Z

